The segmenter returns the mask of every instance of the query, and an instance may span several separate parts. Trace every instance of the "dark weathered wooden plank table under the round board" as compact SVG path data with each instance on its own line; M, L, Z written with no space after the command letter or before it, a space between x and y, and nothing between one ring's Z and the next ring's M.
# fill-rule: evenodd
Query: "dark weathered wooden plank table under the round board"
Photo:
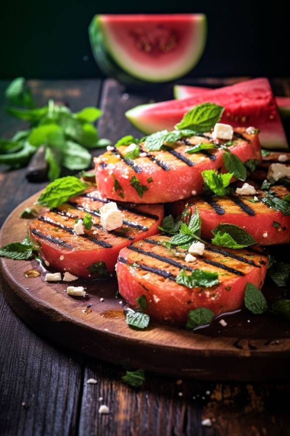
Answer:
M214 87L221 82L195 84ZM0 82L1 103L6 85ZM125 110L151 99L172 98L169 85L158 91L158 99L156 91L134 94L113 80L34 80L30 85L39 104L52 98L68 102L73 111L84 106L103 109L99 134L112 141L140 135L126 120ZM290 80L274 79L272 85L276 95L290 96ZM10 137L20 126L1 112L1 137ZM25 169L2 171L0 223L43 186L28 183ZM144 387L134 390L122 383L123 373L120 367L39 337L0 294L0 435L290 435L289 383L181 381L146 374ZM89 378L98 383L86 384ZM98 414L100 404L110 408L110 415ZM206 418L212 420L211 428L202 426Z

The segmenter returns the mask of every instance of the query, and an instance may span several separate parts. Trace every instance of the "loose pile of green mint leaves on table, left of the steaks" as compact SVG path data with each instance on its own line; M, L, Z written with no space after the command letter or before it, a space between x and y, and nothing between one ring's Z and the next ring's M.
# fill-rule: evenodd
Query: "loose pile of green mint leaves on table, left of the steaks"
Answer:
M48 178L60 177L64 168L84 170L91 165L88 150L109 145L107 139L99 139L94 126L102 111L88 107L73 113L62 104L49 100L47 106L36 107L25 79L13 80L5 91L5 111L29 126L19 130L11 139L0 139L0 164L10 169L28 165L40 146L45 147Z

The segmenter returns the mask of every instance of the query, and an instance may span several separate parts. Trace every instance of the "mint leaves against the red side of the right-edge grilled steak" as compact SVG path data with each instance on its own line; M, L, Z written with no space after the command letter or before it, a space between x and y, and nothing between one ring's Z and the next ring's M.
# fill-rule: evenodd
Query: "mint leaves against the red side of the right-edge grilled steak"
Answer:
M244 248L256 244L250 233L235 224L220 223L212 230L215 235L212 243L227 248Z

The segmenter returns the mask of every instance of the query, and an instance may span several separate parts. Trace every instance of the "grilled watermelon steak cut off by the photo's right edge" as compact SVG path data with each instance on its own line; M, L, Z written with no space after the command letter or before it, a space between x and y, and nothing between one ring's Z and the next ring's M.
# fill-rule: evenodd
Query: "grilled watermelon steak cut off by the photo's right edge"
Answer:
M250 184L254 185L254 183ZM289 191L284 186L274 186L277 197L283 198ZM198 208L202 220L202 237L211 239L212 230L219 223L235 224L247 230L259 245L287 244L290 242L290 216L271 209L262 203L265 192L254 195L230 195L225 197L194 196L170 205L172 215L182 214L188 203L194 212ZM259 199L255 203L254 198Z

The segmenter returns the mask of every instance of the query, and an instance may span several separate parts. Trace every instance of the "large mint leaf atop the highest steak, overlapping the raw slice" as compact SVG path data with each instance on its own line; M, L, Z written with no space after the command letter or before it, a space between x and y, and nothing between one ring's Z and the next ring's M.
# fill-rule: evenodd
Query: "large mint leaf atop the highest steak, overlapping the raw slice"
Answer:
M190 109L176 124L177 129L193 129L198 132L208 132L220 120L224 108L214 103L203 103Z

